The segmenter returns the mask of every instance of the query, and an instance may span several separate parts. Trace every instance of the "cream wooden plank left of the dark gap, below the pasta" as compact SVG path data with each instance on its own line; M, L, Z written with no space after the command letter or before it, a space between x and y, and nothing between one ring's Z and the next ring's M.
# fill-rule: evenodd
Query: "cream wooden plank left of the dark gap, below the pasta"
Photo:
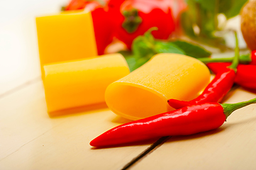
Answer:
M90 147L128 120L102 106L50 118L41 81L1 98L0 113L0 169L121 169L152 144Z

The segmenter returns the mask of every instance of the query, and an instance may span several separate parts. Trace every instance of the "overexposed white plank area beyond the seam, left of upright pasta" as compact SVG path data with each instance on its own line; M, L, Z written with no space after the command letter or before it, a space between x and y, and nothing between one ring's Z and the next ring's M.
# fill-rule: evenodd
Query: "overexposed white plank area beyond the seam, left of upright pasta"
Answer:
M68 2L1 1L6 8L0 11L0 95L40 77L35 16L58 13Z

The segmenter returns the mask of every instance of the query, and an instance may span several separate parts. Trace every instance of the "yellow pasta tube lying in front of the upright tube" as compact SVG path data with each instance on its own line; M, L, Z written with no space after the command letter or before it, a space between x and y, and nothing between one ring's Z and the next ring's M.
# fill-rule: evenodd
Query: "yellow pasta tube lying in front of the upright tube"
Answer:
M44 68L48 112L102 103L106 87L130 73L120 54L51 64Z

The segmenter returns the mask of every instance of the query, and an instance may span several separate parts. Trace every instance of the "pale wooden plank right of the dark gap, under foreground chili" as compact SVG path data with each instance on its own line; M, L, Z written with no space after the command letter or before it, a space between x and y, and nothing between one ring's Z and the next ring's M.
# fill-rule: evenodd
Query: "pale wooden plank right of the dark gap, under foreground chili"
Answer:
M255 97L239 88L226 103ZM171 137L133 169L255 169L255 143L256 104L235 111L217 130Z

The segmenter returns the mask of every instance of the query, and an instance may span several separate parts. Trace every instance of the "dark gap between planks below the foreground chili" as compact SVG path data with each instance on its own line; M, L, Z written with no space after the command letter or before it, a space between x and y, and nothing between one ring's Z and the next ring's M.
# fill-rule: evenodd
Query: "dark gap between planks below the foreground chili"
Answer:
M169 138L170 138L170 136L161 137L159 140L157 140L155 143L153 143L150 147L148 147L143 152L138 154L137 157L133 158L130 162L128 162L128 164L123 166L123 168L121 170L130 169L130 167L132 167L135 163L137 163L138 161L141 161L145 156L147 156L148 154L150 154L153 151L155 151L155 149L157 149L162 144L164 144L167 140L169 140Z

